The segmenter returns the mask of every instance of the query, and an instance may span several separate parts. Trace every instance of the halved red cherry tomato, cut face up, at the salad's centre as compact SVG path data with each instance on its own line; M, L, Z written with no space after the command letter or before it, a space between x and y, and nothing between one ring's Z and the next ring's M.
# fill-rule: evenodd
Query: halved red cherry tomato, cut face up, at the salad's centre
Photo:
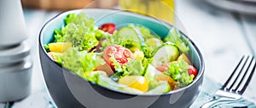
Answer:
M133 59L133 54L128 48L124 48L119 45L110 45L103 51L103 58L108 63L108 65L111 66L111 68L114 70L113 61L110 61L109 59L113 55L113 58L119 62L120 65L127 65L128 64L128 58Z

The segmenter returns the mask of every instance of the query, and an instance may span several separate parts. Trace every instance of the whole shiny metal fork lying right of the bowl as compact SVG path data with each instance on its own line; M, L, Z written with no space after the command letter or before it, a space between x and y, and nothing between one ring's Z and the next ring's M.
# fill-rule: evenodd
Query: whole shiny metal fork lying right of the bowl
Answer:
M254 56L243 55L222 88L218 89L211 101L201 105L201 108L208 108L218 102L241 99L241 94L244 93L253 77L255 67L256 61Z

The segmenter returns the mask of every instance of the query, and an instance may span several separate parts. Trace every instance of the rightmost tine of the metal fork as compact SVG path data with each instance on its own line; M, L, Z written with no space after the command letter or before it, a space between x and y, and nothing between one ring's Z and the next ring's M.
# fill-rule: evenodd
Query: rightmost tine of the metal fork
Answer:
M247 65L247 69L246 69L245 73L243 74L243 76L241 77L240 82L236 85L236 88L232 90L233 92L237 92L238 94L242 94L243 93L241 91L238 91L237 89L241 87L241 82L244 82L244 80L245 80L244 78L247 76L247 72L248 72L248 70L250 69L250 67L251 67L251 65L253 63L253 60L254 60L254 57L252 57L252 59L250 60L250 63L249 63L249 65ZM256 64L253 65L253 68L254 68L255 65ZM252 74L252 72L254 72L254 71L252 70L250 73ZM251 74L249 75L248 78L250 78ZM247 81L250 81L250 79L248 79L248 78L247 78ZM245 84L243 88L247 88L247 85Z

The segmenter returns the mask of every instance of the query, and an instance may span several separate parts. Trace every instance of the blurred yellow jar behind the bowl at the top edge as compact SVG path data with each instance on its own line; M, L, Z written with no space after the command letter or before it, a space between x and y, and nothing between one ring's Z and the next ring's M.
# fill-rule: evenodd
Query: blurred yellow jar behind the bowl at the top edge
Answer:
M119 0L119 7L138 14L165 20L172 25L175 22L174 0Z

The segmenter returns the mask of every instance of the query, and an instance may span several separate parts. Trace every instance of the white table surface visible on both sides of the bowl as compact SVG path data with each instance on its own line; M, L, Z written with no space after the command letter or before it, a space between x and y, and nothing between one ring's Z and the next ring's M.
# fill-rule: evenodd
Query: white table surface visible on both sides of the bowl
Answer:
M177 19L182 22L181 29L201 49L206 63L205 75L213 81L224 82L241 55L255 55L256 17L215 9L201 0L177 0L176 11ZM44 23L60 12L32 9L24 9L24 12L29 36L27 41L32 45L34 61L32 94L28 98L35 102L26 99L14 107L45 108L44 100L36 100L40 96L38 93L47 90L38 57L38 34ZM256 86L253 83L256 83L255 76L243 96L256 103Z

